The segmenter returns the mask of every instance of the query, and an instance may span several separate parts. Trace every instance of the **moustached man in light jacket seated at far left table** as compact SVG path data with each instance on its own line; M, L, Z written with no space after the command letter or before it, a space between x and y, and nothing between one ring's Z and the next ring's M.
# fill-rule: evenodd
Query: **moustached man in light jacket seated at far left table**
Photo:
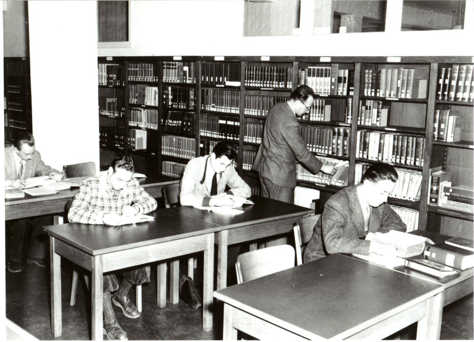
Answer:
M49 176L61 180L62 174L46 165L41 155L35 150L35 138L31 133L18 134L13 146L5 148L5 187L13 186L23 189L24 180L36 176ZM31 229L28 263L46 267L47 234L43 226L51 224L51 216L40 216L27 219L15 219L6 222L9 231L8 271L21 272L21 255L25 231Z

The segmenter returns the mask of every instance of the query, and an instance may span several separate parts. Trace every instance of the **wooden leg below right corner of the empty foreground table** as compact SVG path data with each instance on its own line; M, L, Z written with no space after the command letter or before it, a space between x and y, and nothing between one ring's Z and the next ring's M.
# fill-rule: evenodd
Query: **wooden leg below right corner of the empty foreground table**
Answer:
M426 302L426 315L418 321L417 340L439 339L443 314L444 292L431 297Z

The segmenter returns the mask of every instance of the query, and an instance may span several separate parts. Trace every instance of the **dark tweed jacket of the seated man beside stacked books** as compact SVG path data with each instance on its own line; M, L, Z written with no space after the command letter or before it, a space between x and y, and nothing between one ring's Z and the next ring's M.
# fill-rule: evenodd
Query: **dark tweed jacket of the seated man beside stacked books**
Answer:
M317 260L333 253L368 255L370 241L364 236L364 216L356 191L357 185L335 193L325 204L323 214L314 226L304 251L304 262ZM387 203L371 207L369 232L406 231L400 216Z

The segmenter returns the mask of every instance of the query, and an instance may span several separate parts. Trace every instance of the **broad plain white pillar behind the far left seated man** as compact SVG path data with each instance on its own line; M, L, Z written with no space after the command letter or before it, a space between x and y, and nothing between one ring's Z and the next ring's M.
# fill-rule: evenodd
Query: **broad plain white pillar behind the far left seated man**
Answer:
M99 166L96 11L95 1L29 2L33 134L59 169Z

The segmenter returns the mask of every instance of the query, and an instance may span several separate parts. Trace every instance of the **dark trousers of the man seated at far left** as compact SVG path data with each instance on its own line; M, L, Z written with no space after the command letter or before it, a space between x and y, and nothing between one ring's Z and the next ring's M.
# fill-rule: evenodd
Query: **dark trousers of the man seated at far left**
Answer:
M13 219L5 223L9 233L8 255L11 261L21 262L24 240L30 235L28 256L44 259L48 253L48 234L43 228L52 223L51 216Z

